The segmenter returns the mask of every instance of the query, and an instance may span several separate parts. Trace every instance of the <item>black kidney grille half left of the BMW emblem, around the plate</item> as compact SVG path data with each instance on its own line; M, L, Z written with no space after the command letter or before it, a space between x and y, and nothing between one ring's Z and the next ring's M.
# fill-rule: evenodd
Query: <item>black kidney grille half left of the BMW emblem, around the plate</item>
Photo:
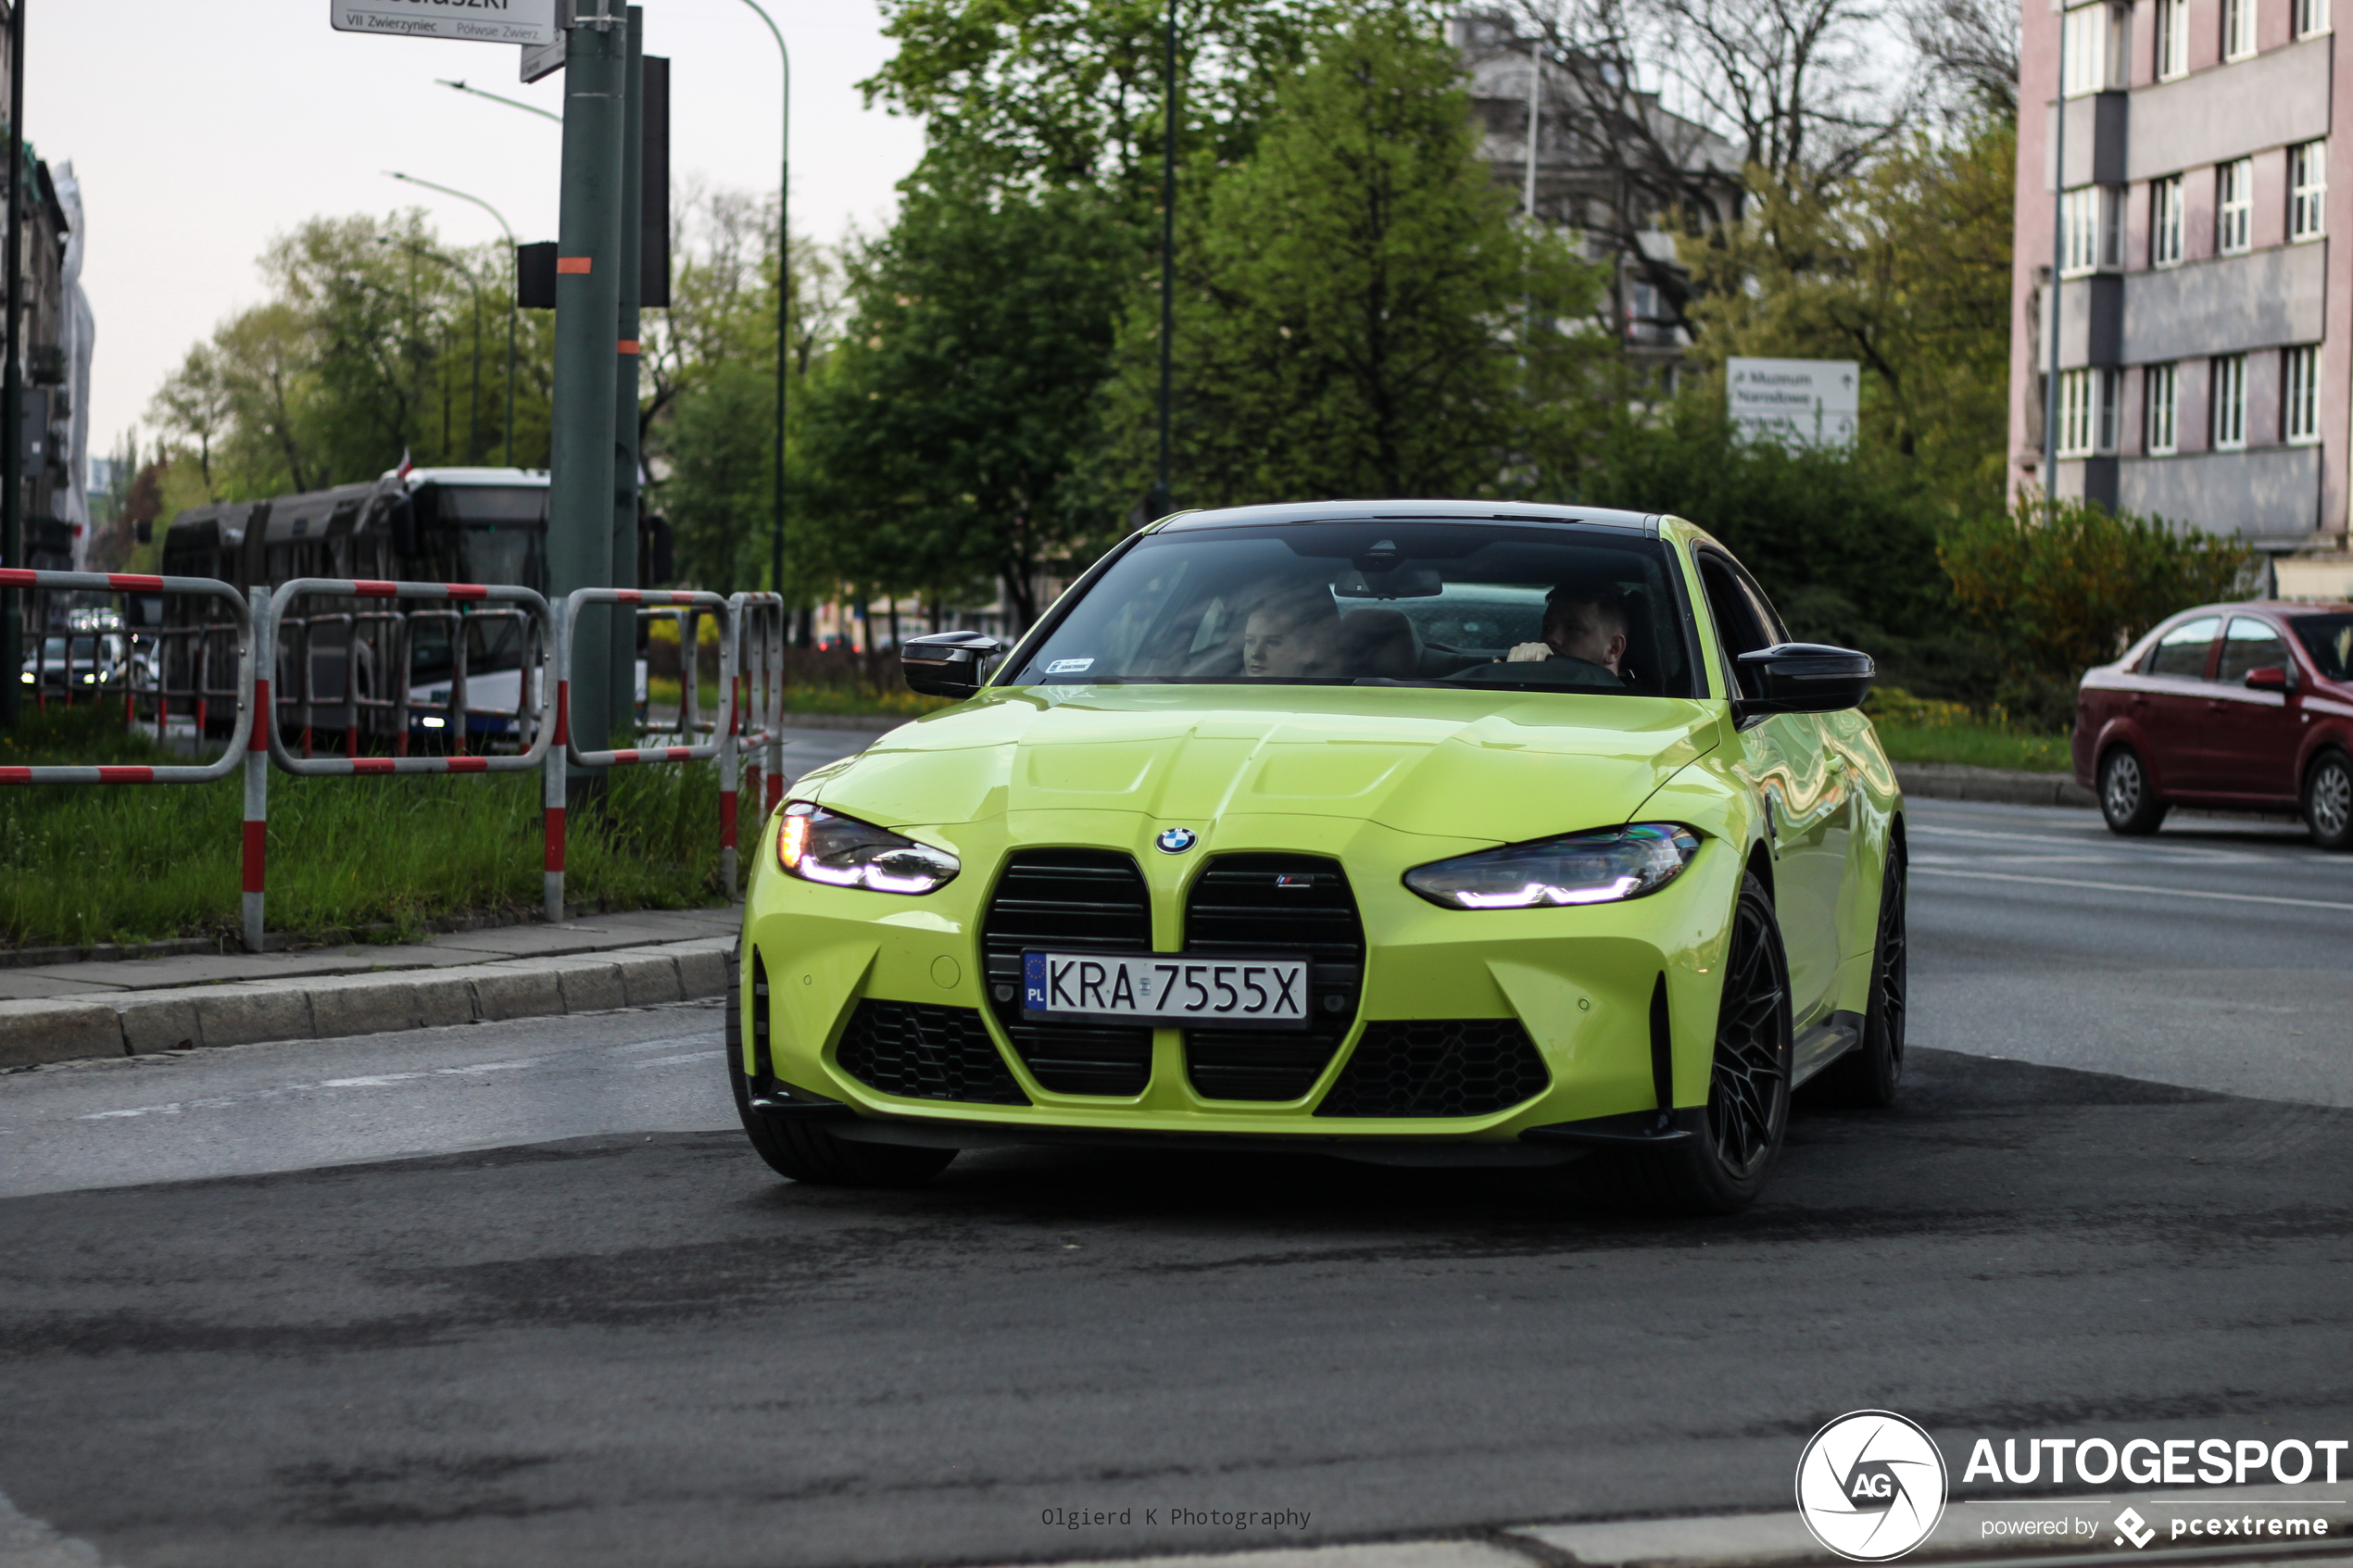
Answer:
M1099 1023L1024 1023L1021 950L1151 952L1144 872L1106 849L1024 849L1005 860L981 922L988 1006L1040 1086L1068 1095L1139 1095L1153 1032Z

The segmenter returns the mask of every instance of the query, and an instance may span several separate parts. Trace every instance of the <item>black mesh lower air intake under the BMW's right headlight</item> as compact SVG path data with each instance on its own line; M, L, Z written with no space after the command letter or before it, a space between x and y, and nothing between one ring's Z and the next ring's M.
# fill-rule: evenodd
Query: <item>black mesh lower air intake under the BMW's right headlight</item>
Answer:
M1485 1117L1553 1081L1518 1018L1367 1023L1318 1117Z

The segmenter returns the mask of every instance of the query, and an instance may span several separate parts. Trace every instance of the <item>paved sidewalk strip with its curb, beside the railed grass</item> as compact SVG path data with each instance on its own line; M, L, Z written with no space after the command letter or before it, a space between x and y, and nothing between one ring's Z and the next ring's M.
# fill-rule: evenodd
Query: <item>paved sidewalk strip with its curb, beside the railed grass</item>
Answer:
M727 992L739 922L635 910L400 947L5 969L0 1067L696 1001Z

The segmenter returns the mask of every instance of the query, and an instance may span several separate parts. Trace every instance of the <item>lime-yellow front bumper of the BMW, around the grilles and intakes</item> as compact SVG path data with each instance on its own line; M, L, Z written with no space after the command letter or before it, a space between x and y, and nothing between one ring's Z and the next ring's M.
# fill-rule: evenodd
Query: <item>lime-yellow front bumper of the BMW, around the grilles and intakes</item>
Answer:
M774 863L772 816L753 851L744 900L741 1070L755 1093L779 1086L779 1100L800 1091L840 1103L845 1112L812 1107L786 1114L824 1114L842 1135L868 1140L946 1147L1245 1140L1252 1147L1320 1147L1407 1164L1424 1159L1421 1150L1431 1145L1487 1145L1497 1164L1546 1164L1562 1157L1572 1140L1539 1135L1520 1143L1522 1133L1657 1112L1661 1086L1671 1107L1706 1103L1727 919L1741 870L1729 844L1706 839L1692 865L1649 898L1440 910L1409 893L1402 875L1480 849L1487 839L1264 813L1200 827L1195 849L1169 856L1155 851L1153 839L1172 825L1193 823L1118 811L1012 811L976 823L906 827L901 832L953 851L965 865L941 891L908 898L786 877ZM1205 1095L1193 1081L1184 1030L1151 1032L1151 1065L1139 1093L1056 1093L1040 1084L991 1009L981 933L1007 858L1054 846L1134 858L1148 889L1158 952L1184 950L1186 896L1221 856L1337 860L1362 924L1362 983L1346 1032L1306 1093L1278 1103ZM762 985L765 1027L758 1016ZM1661 994L1664 1009L1654 1004ZM866 1004L904 1004L941 1018L953 1009L965 1020L967 1048L995 1056L979 1065L1014 1086L1016 1095L1005 1093L995 1103L946 1098L981 1093L969 1088L972 1077L932 1081L925 1093L887 1093L861 1079L845 1067L842 1044ZM1381 1025L1400 1020L1515 1023L1541 1058L1541 1074L1511 1079L1532 1086L1532 1093L1478 1114L1337 1114L1365 1105L1365 1095L1334 1095L1334 1088L1367 1032L1388 1041L1367 1048L1369 1063L1374 1048L1395 1048L1400 1034ZM995 1074L998 1065L1002 1074ZM1473 1152L1454 1147L1449 1164L1466 1154Z

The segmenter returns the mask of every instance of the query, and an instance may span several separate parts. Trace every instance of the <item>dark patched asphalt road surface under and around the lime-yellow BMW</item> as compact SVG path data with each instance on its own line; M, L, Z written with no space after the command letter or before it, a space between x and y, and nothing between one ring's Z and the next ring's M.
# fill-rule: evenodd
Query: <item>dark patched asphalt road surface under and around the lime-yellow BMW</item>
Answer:
M1786 1507L1861 1406L2344 1434L2353 858L1913 830L1906 1098L1720 1222L1273 1157L795 1187L708 1006L5 1077L0 1493L127 1568L904 1563Z

